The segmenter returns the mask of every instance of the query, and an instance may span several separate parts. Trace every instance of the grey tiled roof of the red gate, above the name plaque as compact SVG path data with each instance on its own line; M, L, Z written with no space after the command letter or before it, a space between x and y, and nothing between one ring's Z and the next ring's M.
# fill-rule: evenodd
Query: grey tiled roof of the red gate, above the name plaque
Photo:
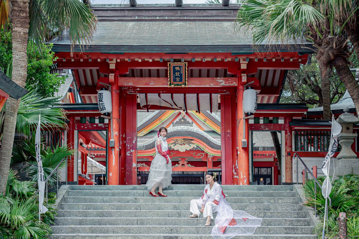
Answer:
M51 43L55 52L69 51L69 33ZM301 43L310 44L291 42ZM253 52L252 44L252 34L232 21L100 21L86 52Z

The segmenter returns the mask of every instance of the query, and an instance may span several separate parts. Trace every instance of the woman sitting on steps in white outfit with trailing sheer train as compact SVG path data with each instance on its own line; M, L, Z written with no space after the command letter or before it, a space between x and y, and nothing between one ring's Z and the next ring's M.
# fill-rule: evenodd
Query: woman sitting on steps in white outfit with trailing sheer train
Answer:
M233 211L225 199L222 187L216 182L216 174L208 172L202 197L191 201L190 218L197 218L200 213L207 218L206 226L211 225L213 213L217 212L216 223L212 229L212 236L215 239L230 239L237 235L253 234L262 219L255 218L244 211Z

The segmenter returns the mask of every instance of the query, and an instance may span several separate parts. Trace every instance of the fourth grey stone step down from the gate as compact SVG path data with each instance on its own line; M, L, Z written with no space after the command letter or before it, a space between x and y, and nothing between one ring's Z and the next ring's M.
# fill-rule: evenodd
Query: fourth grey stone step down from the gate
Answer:
M231 204L243 211L301 211L300 204ZM62 203L62 210L189 210L190 203Z

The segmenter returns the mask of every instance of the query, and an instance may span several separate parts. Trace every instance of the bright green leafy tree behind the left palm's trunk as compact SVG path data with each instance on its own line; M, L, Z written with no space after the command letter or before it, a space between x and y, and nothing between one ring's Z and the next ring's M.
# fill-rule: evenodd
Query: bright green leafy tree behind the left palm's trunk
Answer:
M38 88L38 94L43 97L53 97L59 90L65 77L51 73L55 53L51 52L52 45L42 44L28 46L26 88ZM0 31L0 68L6 69L12 63L11 32ZM11 75L9 76L11 77Z

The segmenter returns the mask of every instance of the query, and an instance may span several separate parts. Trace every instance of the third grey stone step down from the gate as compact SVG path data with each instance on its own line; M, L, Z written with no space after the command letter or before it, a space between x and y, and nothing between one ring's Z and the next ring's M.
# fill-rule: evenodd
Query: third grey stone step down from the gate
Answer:
M190 203L199 197L65 197L66 203ZM232 203L260 203L260 204L299 204L298 197L228 197Z

